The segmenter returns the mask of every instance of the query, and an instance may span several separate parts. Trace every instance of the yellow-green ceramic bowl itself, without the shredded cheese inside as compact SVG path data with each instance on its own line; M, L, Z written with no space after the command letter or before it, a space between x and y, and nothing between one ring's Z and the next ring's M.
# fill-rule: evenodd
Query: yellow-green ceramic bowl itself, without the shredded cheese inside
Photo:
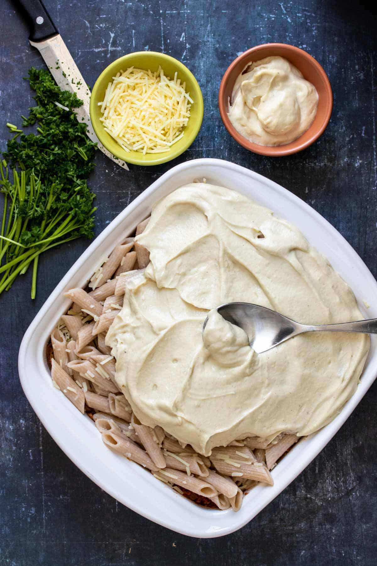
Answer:
M177 78L181 79L181 84L186 83L186 92L190 93L190 97L194 101L194 104L191 106L188 124L184 128L183 138L172 145L170 151L164 153L146 153L146 155L142 155L142 153L138 151L126 152L103 129L102 122L99 119L101 118L101 106L98 106L98 102L102 102L105 97L107 85L121 69L125 71L129 67L138 67L146 71L150 69L154 72L157 71L159 66L163 69L164 74L171 79L174 78L174 74L177 72ZM123 159L123 161L127 161L127 163L133 163L135 165L159 165L181 155L181 153L190 147L198 135L203 119L202 92L192 72L190 72L183 63L170 57L170 55L154 51L129 53L128 55L123 55L123 57L116 59L113 63L110 63L96 80L96 84L94 84L92 90L92 96L90 97L90 119L92 120L93 128L99 141L101 141L113 155Z

